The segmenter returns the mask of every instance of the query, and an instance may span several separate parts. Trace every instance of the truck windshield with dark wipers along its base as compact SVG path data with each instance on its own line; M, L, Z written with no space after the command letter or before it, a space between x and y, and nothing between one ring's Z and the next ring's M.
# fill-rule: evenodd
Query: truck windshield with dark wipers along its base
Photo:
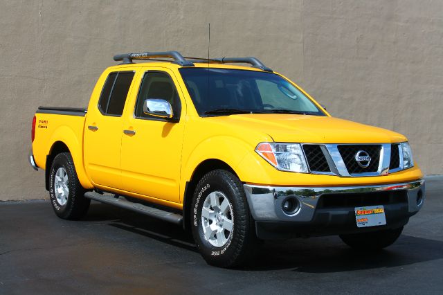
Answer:
M297 87L275 73L214 68L181 68L179 71L199 116L325 116Z

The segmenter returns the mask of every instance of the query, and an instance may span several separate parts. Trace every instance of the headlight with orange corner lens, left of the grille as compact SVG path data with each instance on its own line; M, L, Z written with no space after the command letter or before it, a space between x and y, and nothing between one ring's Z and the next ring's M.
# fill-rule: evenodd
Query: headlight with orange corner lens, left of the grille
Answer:
M282 171L307 173L307 163L299 143L259 143L255 152Z

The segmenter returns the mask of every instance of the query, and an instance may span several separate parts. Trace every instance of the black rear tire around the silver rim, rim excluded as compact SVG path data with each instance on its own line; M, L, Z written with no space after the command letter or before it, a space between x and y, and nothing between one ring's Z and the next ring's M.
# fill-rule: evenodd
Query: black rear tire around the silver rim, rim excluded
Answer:
M66 171L69 193L66 204L61 204L55 195L55 175L59 168ZM49 171L49 197L55 214L64 220L79 220L88 211L90 199L84 197L85 190L78 181L71 154L62 152L55 156Z

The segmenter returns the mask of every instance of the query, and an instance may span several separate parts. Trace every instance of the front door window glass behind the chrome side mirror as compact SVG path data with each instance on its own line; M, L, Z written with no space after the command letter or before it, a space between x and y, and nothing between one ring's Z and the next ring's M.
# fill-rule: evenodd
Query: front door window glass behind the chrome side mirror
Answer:
M161 71L147 71L141 82L140 91L135 108L136 118L152 118L159 120L159 118L150 116L143 112L143 103L147 99L162 99L170 102L174 118L179 118L181 111L181 102L179 93L175 88L174 81L170 75Z

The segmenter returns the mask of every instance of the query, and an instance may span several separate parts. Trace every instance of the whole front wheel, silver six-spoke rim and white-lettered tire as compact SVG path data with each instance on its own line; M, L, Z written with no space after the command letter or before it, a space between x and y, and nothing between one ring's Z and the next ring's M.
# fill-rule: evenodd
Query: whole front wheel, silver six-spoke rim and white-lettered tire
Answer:
M255 231L242 183L226 170L208 172L192 198L192 235L203 258L238 267L251 255Z

